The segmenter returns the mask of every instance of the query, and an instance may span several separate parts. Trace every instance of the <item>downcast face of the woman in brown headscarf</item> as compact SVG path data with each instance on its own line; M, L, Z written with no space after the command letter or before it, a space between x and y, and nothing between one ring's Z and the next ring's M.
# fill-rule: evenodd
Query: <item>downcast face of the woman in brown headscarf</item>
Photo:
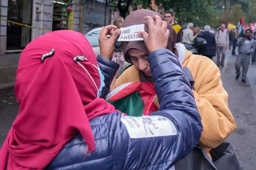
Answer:
M148 63L148 55L144 51L139 49L128 49L127 54L131 58L131 62L133 65L143 71L147 76L152 76L149 63Z

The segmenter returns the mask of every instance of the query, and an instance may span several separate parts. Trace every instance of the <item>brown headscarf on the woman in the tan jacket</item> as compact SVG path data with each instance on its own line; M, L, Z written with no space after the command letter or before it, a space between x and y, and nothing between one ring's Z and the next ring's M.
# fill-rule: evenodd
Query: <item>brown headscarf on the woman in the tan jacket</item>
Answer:
M141 10L136 10L136 11L131 12L131 14L125 18L123 27L145 24L144 31L148 32L148 23L144 17L146 17L146 16L153 17L154 15L158 15L162 18L162 21L166 21L166 19L161 14L159 14L155 11L141 9ZM177 34L169 23L167 25L167 29L170 30L170 36L168 39L166 49L168 49L174 53ZM121 41L121 46L122 46L122 50L124 52L124 58L128 63L131 63L129 55L126 54L128 49L135 48L135 49L142 50L148 54L148 49L147 49L144 41ZM141 82L153 82L151 77L146 76L140 70L139 70L139 75L140 75Z

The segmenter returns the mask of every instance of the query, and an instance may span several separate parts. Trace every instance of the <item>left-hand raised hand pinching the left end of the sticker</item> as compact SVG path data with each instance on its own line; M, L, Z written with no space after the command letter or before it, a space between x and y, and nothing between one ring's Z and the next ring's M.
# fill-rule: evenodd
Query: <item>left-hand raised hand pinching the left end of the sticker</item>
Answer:
M100 30L100 36L99 36L100 55L105 57L108 60L112 59L116 38L121 33L121 30L116 28L117 26L108 25L108 26L102 27L102 29ZM108 37L108 35L110 35L110 37Z

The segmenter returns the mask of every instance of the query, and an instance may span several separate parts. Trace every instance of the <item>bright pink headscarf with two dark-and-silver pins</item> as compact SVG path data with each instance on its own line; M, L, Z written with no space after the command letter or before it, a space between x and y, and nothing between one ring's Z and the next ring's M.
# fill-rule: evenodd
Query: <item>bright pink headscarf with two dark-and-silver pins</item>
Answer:
M41 56L52 50L52 57ZM20 105L17 118L0 151L0 170L44 169L78 132L88 152L95 151L89 120L115 112L97 98L100 76L96 56L86 38L75 31L55 31L34 41L21 53L15 93Z

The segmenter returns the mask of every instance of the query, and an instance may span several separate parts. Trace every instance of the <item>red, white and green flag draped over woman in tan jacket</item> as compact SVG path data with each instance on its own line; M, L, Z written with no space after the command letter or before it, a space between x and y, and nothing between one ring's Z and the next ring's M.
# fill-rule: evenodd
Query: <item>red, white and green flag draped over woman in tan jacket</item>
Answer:
M142 116L159 110L154 103L155 97L153 83L134 82L117 87L106 100L129 116Z

